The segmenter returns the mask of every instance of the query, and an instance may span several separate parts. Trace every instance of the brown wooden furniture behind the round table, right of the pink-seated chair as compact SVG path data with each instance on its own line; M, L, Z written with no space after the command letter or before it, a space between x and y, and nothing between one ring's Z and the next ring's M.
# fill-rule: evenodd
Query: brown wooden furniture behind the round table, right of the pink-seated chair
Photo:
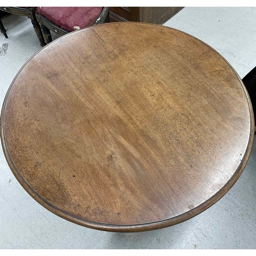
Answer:
M111 7L110 22L164 24L184 7Z

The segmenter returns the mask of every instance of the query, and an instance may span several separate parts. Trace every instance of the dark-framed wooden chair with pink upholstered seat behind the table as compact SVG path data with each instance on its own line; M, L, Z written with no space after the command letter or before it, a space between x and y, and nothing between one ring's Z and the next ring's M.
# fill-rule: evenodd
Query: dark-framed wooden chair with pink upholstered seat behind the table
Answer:
M65 35L75 30L109 21L109 7L37 7L35 16L46 44L51 32Z

